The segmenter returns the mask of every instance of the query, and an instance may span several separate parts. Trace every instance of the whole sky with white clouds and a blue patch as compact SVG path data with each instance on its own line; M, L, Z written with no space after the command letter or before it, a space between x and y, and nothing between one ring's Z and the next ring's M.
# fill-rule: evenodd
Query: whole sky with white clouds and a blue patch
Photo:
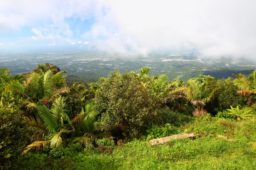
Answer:
M256 54L256 0L0 0L0 50Z

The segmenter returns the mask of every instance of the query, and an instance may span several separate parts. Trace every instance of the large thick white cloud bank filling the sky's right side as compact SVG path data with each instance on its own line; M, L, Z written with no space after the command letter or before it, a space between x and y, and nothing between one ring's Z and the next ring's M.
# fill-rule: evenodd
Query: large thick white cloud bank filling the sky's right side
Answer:
M208 57L256 55L255 0L108 0L104 6L109 10L97 12L96 23L83 34L94 42L104 37L96 44L99 50L147 55L195 49Z

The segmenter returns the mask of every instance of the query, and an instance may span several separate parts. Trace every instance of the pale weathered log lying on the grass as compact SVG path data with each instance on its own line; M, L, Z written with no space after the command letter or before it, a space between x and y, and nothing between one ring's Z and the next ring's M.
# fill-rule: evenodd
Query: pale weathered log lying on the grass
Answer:
M195 138L195 134L193 132L180 133L180 134L177 134L177 135L167 136L167 137L158 138L158 139L152 139L149 142L153 146L153 145L156 145L156 144L169 142L170 140L185 139L185 138Z

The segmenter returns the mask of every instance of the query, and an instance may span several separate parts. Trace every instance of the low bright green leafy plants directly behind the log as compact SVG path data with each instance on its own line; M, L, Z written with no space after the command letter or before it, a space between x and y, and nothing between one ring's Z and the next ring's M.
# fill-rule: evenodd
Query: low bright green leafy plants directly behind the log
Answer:
M153 125L150 129L146 130L146 132L148 133L147 139L157 139L177 134L179 129L170 124L166 124L164 127Z

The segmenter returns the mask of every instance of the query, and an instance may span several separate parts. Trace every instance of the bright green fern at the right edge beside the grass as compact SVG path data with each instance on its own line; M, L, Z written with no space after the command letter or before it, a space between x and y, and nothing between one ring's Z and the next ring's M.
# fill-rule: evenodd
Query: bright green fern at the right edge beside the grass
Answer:
M239 106L236 106L236 108L233 108L230 106L231 109L227 109L228 113L230 115L236 116L236 119L240 121L241 119L247 119L251 116L256 116L256 112L252 110L251 108L242 108L239 109Z

